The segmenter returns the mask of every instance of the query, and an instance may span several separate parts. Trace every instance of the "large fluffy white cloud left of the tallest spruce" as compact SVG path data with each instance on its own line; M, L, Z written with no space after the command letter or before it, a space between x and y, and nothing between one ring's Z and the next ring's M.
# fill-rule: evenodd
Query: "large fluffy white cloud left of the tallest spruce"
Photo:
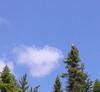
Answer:
M43 77L50 74L63 58L62 52L54 47L19 47L15 48L17 63L26 65L34 77Z

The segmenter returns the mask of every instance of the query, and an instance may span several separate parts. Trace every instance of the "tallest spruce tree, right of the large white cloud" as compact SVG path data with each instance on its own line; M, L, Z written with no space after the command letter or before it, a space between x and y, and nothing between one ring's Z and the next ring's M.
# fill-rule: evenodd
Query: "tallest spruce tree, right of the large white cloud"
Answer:
M79 52L74 45L64 63L66 72L62 77L67 79L66 92L86 92L87 74L84 73L84 65L80 63Z

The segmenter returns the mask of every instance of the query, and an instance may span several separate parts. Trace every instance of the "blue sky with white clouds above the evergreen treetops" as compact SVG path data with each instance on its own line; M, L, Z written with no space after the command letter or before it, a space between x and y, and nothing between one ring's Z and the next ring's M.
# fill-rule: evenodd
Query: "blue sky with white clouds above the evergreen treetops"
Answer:
M0 0L0 71L51 92L74 43L92 80L100 79L100 0Z

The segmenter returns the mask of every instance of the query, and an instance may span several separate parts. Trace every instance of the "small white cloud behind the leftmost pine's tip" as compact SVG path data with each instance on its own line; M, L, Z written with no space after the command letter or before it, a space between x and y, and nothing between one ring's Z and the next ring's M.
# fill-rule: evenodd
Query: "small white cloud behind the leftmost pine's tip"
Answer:
M0 58L0 72L3 71L3 68L5 67L5 65L8 65L11 72L13 72L13 70L14 70L13 63L12 62L6 62L5 59Z

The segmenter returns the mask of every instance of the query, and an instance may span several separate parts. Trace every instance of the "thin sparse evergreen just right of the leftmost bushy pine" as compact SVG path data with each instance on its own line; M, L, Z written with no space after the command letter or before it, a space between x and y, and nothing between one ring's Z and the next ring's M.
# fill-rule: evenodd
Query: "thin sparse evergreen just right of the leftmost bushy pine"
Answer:
M19 80L19 89L20 89L20 92L27 92L28 88L29 86L28 86L28 81L27 81L27 75L25 74Z

